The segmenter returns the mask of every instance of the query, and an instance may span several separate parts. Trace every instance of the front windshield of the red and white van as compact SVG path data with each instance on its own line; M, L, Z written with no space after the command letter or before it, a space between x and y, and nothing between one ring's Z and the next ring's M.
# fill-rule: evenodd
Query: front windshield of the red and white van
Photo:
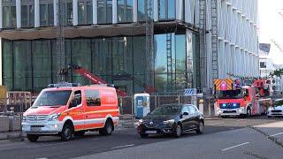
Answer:
M44 91L34 102L34 106L63 106L66 105L72 91Z

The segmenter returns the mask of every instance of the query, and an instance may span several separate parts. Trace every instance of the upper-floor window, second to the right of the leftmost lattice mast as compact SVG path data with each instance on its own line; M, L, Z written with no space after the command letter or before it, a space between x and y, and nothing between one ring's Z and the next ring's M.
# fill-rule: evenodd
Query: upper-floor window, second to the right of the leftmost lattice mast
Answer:
M78 23L79 25L92 24L91 0L78 1Z

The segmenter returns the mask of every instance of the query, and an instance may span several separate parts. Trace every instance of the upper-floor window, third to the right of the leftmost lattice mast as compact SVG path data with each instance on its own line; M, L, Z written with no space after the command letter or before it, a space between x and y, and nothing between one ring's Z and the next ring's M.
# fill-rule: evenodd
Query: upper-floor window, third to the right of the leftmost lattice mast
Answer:
M112 0L97 0L98 24L112 23Z

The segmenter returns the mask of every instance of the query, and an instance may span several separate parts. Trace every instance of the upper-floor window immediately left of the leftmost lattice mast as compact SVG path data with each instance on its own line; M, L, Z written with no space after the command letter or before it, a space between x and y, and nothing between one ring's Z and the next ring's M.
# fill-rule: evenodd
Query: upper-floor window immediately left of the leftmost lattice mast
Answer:
M54 25L54 5L52 0L40 1L40 24L41 27Z

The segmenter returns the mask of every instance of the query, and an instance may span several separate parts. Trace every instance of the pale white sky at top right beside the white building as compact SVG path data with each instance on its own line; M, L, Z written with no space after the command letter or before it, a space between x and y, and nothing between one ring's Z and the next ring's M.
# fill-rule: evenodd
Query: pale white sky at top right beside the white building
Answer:
M283 49L283 0L258 0L258 33L259 42L272 43L273 40ZM283 64L283 52L274 43L270 57L274 64Z

